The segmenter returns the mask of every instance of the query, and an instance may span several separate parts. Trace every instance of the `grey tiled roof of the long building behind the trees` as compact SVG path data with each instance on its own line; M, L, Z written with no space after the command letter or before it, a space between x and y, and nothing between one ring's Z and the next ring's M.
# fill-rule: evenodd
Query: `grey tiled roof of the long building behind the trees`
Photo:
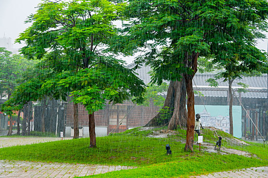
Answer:
M130 64L127 67L133 68L135 65ZM135 72L137 73L138 77L144 81L144 83L148 84L151 81L151 76L148 74L151 68L149 66L142 66L141 68L137 69ZM206 97L227 97L227 87L228 82L223 82L223 79L218 79L219 88L211 87L209 88L209 83L206 82L207 79L213 78L215 74L212 73L196 73L193 79L193 86L194 90L200 91L203 96ZM261 90L262 88L267 88L267 74L263 74L261 76L256 77L242 77L242 79L235 79L232 83L233 87L241 87L237 83L245 83L248 85L249 88L258 88ZM195 87L197 86L197 88ZM206 90L202 90L200 86L207 86ZM220 88L225 88L225 90L221 90ZM198 90L199 88L199 90ZM198 96L198 94L196 95ZM236 93L236 96L239 95ZM267 98L267 93L265 92L247 92L242 93L243 98Z

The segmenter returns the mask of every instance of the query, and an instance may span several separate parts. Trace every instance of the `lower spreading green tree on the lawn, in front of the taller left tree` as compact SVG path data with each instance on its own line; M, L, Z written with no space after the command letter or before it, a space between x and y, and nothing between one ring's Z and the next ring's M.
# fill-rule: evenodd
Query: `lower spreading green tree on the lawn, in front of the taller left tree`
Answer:
M114 63L115 59L107 64L98 64L92 68L79 70L75 75L65 73L60 77L58 85L76 87L71 92L75 104L82 104L88 111L88 126L90 128L90 147L96 146L94 112L103 109L106 101L123 103L132 100L134 103L143 102L145 84L131 69L123 64Z

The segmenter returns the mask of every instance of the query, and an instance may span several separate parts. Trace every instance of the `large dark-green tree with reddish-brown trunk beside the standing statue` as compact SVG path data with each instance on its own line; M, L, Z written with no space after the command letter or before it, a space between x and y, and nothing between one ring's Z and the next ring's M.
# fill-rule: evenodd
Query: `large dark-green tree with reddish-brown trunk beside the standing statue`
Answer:
M131 21L125 25L125 36L118 38L114 48L125 47L122 50L125 53L133 49L147 50L136 63L152 66L154 82L170 81L165 103L174 103L171 121L178 120L180 88L185 80L188 97L185 151L193 151L195 111L192 79L197 71L197 58L215 55L215 62L228 63L237 61L237 57L247 57L247 62L238 65L263 64L261 52L253 46L256 38L264 37L258 30L267 28L268 4L264 0L130 0L128 5L125 15ZM247 54L241 52L237 57L228 57L226 51L229 48L232 48L231 54L241 49Z

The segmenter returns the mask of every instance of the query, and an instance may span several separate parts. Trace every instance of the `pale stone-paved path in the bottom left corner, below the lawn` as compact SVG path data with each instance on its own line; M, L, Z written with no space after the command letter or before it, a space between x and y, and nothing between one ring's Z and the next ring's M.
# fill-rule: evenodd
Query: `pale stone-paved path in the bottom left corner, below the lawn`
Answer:
M132 168L134 167L0 160L0 177L74 177Z

